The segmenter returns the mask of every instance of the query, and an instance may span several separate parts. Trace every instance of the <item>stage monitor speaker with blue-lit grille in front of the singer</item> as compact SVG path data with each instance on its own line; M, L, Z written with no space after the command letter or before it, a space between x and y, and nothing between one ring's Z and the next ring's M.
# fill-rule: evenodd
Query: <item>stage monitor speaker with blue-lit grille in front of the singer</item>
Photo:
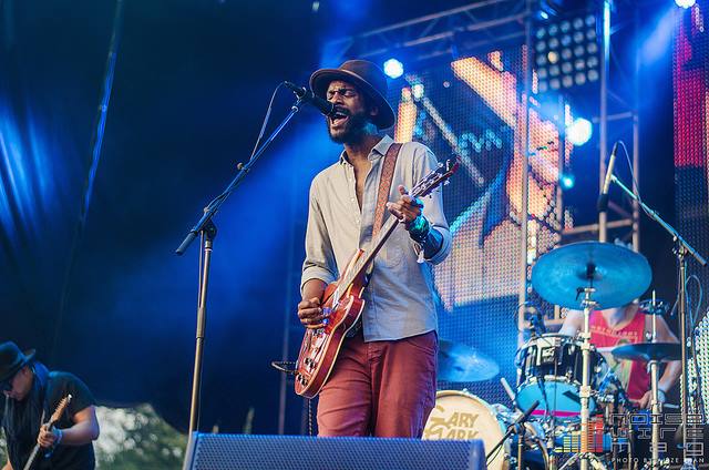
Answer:
M184 470L479 470L481 440L194 433Z

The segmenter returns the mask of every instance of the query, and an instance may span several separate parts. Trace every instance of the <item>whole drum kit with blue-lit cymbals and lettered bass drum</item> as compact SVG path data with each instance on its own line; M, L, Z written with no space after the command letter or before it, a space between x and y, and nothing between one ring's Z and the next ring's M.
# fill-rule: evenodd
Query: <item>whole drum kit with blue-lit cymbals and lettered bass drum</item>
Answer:
M630 419L639 410L592 345L589 331L592 311L633 303L650 280L647 259L619 245L582 242L542 256L532 269L532 285L549 304L583 310L583 328L575 337L531 331L516 354L516 390L502 379L514 410L490 405L467 391L439 391L423 438L482 439L492 470L563 470L574 464L582 470L661 468L659 365L681 355L678 344L656 341L655 319L667 313L667 304L653 300L643 306L644 314L654 316L648 343L612 349L617 360L647 366L651 390L647 456L640 456ZM474 348L441 341L440 380L490 380L499 371L493 359Z

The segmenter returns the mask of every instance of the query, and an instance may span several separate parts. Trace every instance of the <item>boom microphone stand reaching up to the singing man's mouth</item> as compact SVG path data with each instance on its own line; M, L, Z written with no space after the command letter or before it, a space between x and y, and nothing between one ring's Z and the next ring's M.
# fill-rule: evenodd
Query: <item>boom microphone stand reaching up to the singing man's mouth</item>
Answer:
M214 238L217 234L217 227L213 222L214 215L219 211L222 204L229 197L229 195L236 190L236 187L244 181L251 166L261 156L268 145L276 139L276 135L288 124L292 116L300 111L300 106L304 103L302 99L298 99L296 103L290 108L290 112L282 122L274 130L268 139L261 144L261 146L254 152L251 157L246 164L237 166L238 173L228 184L226 190L217 197L215 197L207 207L204 210L202 218L185 236L179 247L175 251L177 255L183 255L187 247L194 242L197 235L202 238L202 252L199 254L199 288L197 295L197 330L196 330L196 345L195 345L195 367L192 376L192 399L189 405L189 440L193 439L193 433L197 431L199 426L199 392L202 388L202 362L204 351L205 330L207 324L207 286L209 284L209 266L212 264L212 249Z

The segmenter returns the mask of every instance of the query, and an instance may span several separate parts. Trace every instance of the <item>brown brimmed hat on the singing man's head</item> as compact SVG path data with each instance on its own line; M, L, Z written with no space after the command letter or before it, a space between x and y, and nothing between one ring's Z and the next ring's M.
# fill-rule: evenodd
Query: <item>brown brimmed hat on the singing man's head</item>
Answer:
M379 129L388 129L394 124L394 110L387 101L387 75L368 60L348 60L339 69L320 69L310 75L310 90L322 99L330 82L342 80L352 83L367 94L379 108L379 114L372 117L372 122Z

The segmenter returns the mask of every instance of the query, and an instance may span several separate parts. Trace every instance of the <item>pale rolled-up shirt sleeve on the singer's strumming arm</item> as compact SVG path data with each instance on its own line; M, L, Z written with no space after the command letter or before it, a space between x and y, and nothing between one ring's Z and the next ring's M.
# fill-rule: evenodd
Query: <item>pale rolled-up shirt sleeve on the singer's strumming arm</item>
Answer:
M308 204L308 226L306 228L306 259L302 263L300 293L310 279L320 279L330 284L337 279L337 263L332 245L325 225L325 218L318 204L318 178L310 184Z

